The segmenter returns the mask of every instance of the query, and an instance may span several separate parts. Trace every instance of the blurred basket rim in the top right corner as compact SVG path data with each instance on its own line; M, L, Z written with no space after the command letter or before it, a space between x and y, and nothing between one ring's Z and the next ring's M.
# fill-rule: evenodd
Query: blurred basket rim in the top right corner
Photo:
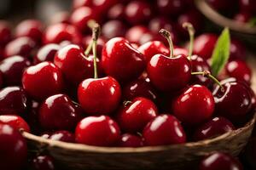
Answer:
M215 9L211 8L205 0L195 0L195 6L208 20L211 20L218 26L229 27L232 31L256 35L256 26L249 26L219 14Z

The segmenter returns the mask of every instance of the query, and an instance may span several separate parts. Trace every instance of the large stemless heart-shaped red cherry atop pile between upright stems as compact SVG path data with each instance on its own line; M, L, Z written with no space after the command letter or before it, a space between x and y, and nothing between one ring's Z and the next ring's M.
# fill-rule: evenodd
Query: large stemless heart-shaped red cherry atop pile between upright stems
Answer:
M128 82L142 74L145 59L125 38L114 37L102 50L102 67L109 76Z

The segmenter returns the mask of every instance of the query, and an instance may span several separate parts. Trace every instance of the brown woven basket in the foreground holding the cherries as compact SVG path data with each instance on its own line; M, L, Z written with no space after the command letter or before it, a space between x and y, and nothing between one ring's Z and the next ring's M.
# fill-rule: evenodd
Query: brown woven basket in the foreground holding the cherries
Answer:
M43 139L23 132L29 148L46 150L50 156L70 169L191 169L208 153L221 150L237 156L247 144L255 116L244 127L200 142L142 148L108 148L85 144L68 144Z

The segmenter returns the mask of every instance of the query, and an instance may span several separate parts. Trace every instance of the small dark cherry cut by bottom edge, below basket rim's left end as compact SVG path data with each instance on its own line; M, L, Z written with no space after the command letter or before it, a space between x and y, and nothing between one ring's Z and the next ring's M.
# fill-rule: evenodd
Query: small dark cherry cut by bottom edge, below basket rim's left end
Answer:
M55 170L54 160L50 156L37 156L32 160L35 170Z

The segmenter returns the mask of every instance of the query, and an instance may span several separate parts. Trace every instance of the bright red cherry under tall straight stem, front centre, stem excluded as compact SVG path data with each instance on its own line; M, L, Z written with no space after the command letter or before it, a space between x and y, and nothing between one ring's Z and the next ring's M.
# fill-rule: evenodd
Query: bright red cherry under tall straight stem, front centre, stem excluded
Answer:
M78 99L85 113L111 114L119 105L121 89L113 77L89 78L80 83Z

